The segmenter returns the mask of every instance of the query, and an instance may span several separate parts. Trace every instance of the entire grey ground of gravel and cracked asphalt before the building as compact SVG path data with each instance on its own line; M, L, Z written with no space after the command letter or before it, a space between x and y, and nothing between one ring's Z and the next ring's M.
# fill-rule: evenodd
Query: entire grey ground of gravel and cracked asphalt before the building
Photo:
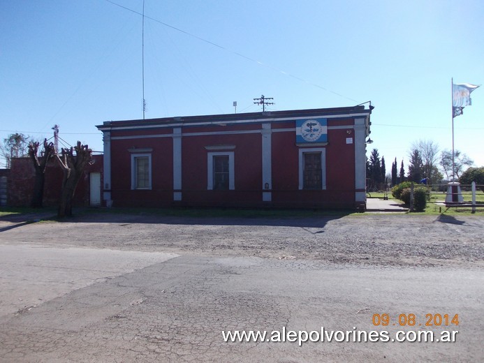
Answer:
M0 218L0 361L478 362L483 236L482 216ZM375 313L395 323L376 326ZM221 336L417 329L399 325L402 313L458 339L299 347ZM459 326L423 326L441 313Z

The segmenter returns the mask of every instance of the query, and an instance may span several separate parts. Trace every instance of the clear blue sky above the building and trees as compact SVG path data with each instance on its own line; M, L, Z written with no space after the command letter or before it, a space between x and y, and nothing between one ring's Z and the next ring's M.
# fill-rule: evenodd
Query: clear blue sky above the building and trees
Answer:
M0 138L102 151L103 121L142 118L142 0L0 1ZM146 118L372 101L386 169L452 144L451 77L484 83L484 1L145 0ZM163 24L164 23L164 24ZM484 86L455 148L484 165ZM369 153L368 153L369 154ZM0 167L3 161L0 162Z

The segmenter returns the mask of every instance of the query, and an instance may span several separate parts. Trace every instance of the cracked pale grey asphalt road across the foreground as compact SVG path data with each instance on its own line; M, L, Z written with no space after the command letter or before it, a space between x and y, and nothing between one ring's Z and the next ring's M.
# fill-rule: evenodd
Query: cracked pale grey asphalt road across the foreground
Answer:
M66 228L47 225L53 235L56 228ZM476 264L354 265L288 253L270 258L223 251L119 251L94 247L96 225L88 225L85 234L93 246L73 243L81 229L73 229L71 237L64 230L62 241L34 242L29 236L41 233L45 223L0 232L0 362L484 360L484 274ZM163 228L168 235L180 228L142 227ZM457 227L465 234L462 225ZM214 233L220 225L205 229ZM196 231L193 239L203 239ZM328 232L330 223L325 238ZM375 326L374 314L384 313L389 324ZM427 314L434 326L425 326ZM435 326L437 314L448 314L448 324L443 318ZM450 322L455 314L458 325ZM407 321L401 326L402 320ZM323 342L301 346L290 339L240 343L225 342L222 334L255 330L277 336L322 327L326 334L344 332L336 337L350 332L350 341L328 342L326 335ZM444 330L458 331L454 342L391 341L397 331L439 336ZM362 331L388 331L389 341L351 341L351 332Z

